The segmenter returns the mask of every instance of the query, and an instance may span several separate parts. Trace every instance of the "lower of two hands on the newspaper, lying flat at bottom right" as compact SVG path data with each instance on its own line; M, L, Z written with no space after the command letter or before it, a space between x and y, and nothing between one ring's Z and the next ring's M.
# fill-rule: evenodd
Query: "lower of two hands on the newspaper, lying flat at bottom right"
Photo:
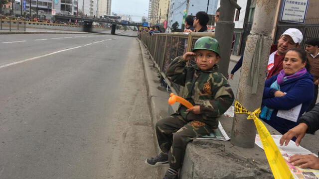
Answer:
M289 159L289 163L294 166L300 165L300 168L319 169L319 158L312 154L295 154Z

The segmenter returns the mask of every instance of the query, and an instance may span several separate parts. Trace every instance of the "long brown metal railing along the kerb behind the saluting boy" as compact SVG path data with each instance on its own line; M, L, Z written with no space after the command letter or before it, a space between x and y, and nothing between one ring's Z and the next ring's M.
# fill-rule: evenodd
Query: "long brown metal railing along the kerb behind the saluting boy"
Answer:
M182 94L179 85L170 83L165 76L169 64L178 56L182 56L185 52L189 52L194 48L196 40L200 37L215 37L214 32L195 32L184 34L182 32L174 33L141 33L141 40L149 51L150 57L158 68L161 76L170 86L174 93ZM190 63L195 63L190 61ZM189 64L187 64L189 65Z

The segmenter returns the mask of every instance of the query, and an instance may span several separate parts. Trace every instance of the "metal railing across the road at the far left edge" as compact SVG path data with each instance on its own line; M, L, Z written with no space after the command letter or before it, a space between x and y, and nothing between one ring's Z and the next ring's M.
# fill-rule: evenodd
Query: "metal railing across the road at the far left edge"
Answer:
M25 31L25 24L26 24L25 18L0 15L0 30Z

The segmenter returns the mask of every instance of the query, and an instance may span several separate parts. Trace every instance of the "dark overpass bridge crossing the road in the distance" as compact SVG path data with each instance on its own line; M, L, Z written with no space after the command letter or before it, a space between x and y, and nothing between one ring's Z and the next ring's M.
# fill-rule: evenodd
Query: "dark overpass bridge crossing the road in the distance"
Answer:
M56 20L61 20L61 19L67 19L67 20L80 20L84 21L84 31L85 32L90 32L92 29L92 23L93 22L102 22L102 23L110 23L112 24L111 28L111 34L115 34L116 30L116 25L126 25L126 26L135 26L139 28L142 26L142 23L138 22L130 22L126 20L113 20L113 19L106 19L106 18L93 18L93 17L87 17L87 16L80 16L80 15L54 15L54 18Z

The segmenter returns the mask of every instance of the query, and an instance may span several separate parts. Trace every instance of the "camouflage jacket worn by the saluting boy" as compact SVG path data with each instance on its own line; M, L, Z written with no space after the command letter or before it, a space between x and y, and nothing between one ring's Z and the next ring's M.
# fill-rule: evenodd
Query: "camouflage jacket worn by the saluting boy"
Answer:
M187 112L186 107L179 105L178 113L187 121L198 120L213 129L218 127L218 119L233 103L234 93L227 79L217 71L214 65L207 71L197 65L186 67L186 61L177 57L167 69L167 77L173 83L185 87L182 95L193 105L200 106L200 114Z

